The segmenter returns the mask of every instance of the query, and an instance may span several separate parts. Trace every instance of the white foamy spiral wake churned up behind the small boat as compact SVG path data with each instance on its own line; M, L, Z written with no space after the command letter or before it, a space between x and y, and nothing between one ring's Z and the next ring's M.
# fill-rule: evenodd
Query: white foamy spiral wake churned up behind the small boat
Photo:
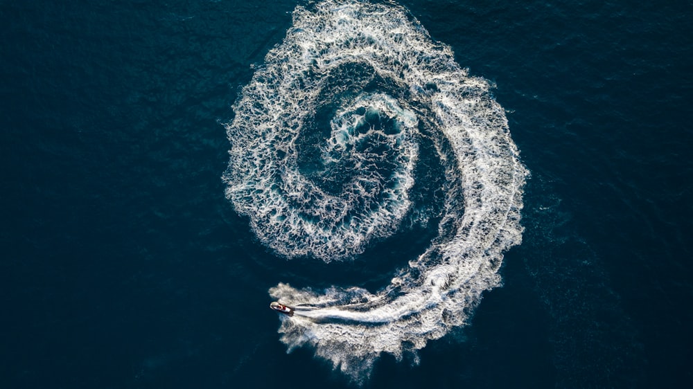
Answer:
M365 71L342 84L349 82L342 73L356 68ZM331 81L337 77L342 83ZM381 291L270 289L298 305L279 329L289 350L314 347L360 381L381 353L401 359L466 324L482 292L500 284L502 253L521 241L527 170L489 88L394 3L296 8L286 38L243 89L227 125L226 194L258 239L285 257L329 262L396 233L412 208L422 132L435 143L450 184L439 236ZM319 147L321 162L306 169L301 136L319 126L315 112L330 104L337 107ZM369 125L369 115L392 124ZM371 143L385 154L374 156L365 146ZM387 172L373 168L380 161ZM345 167L353 177L335 183L331 172Z

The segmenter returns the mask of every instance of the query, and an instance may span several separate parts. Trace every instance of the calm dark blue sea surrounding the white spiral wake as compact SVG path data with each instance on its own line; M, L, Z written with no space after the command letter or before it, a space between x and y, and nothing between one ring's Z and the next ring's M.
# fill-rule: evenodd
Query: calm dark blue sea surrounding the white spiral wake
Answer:
M690 382L692 4L401 4L495 82L532 176L503 287L365 386ZM0 386L349 386L286 354L267 289L376 289L405 264L277 257L220 179L220 123L296 5L0 3Z

